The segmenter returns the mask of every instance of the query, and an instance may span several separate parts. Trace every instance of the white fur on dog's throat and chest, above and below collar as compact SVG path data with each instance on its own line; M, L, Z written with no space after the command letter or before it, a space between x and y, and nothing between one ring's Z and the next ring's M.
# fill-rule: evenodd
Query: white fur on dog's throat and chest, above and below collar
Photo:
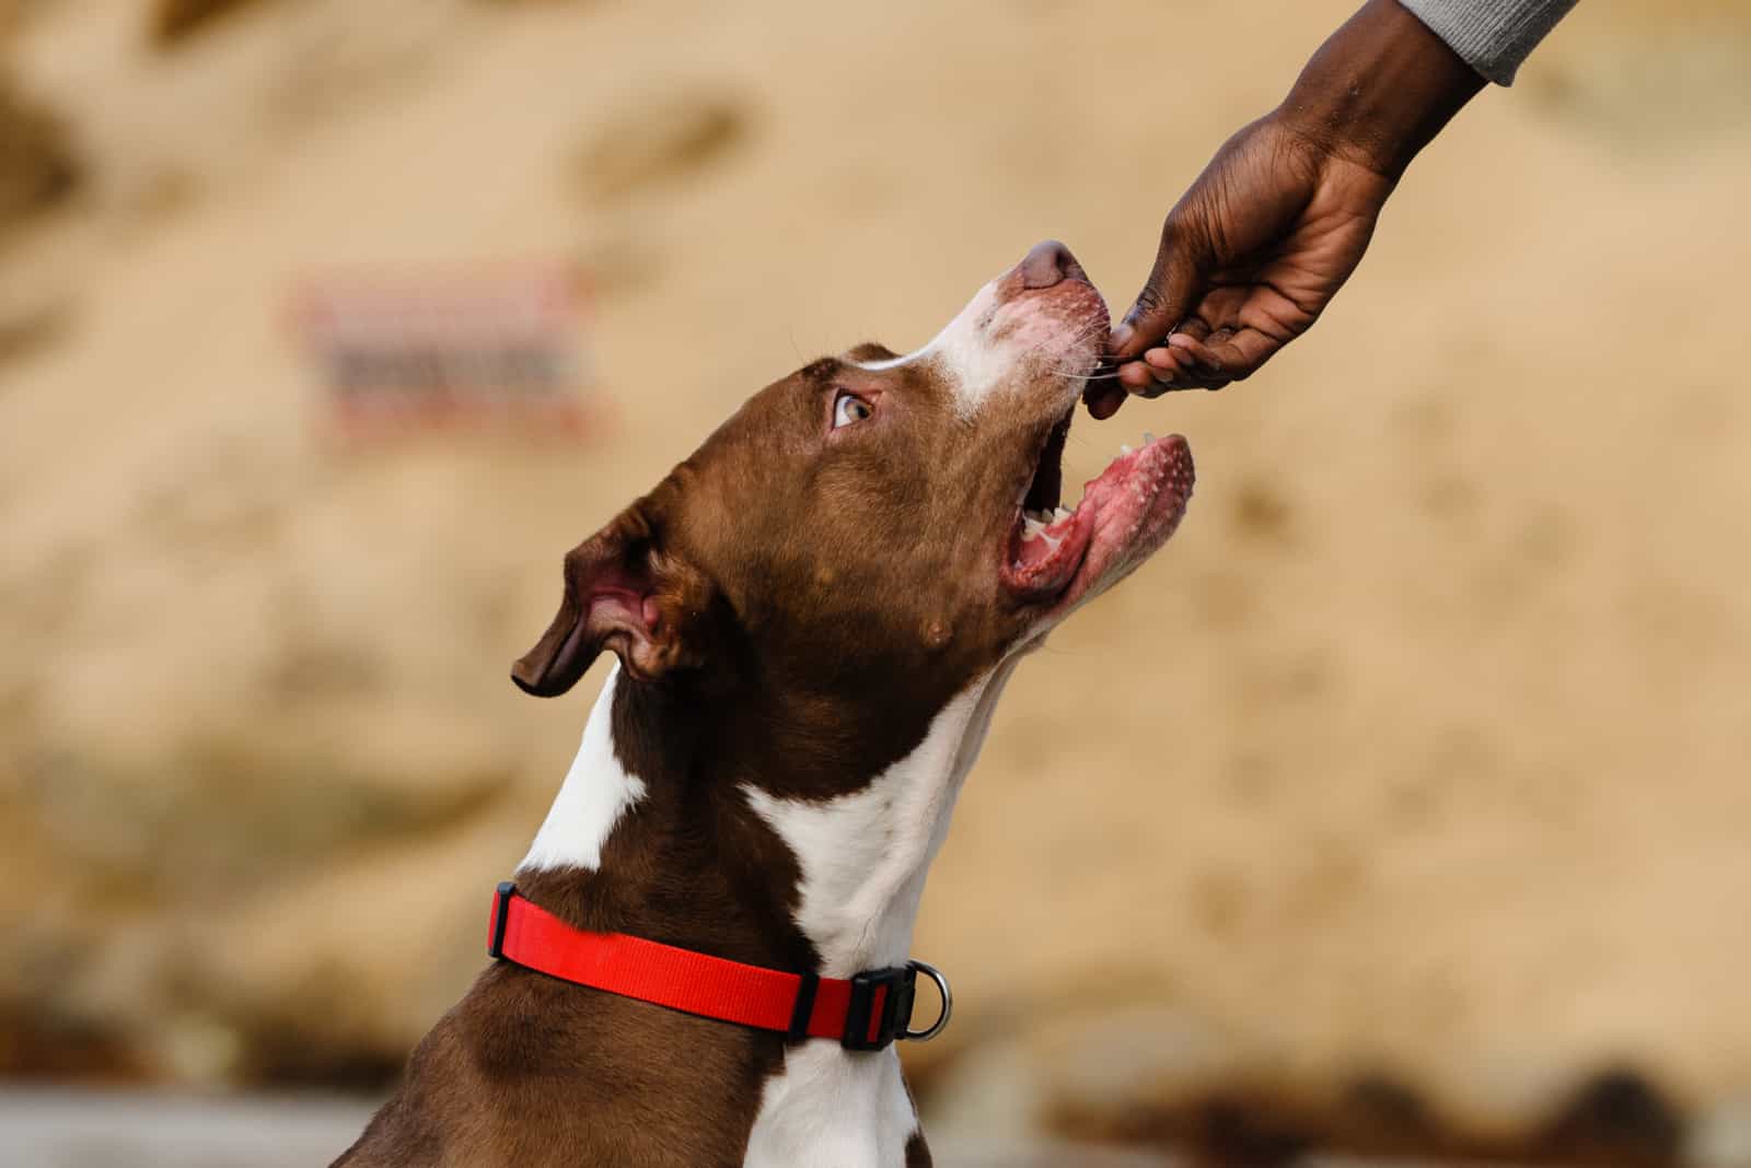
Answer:
M925 741L863 790L807 803L744 789L797 855L797 927L821 955L823 977L905 963L925 874L1014 664L1010 657L944 706ZM767 1079L744 1165L904 1168L916 1130L893 1047L858 1053L811 1039L790 1047L784 1070Z

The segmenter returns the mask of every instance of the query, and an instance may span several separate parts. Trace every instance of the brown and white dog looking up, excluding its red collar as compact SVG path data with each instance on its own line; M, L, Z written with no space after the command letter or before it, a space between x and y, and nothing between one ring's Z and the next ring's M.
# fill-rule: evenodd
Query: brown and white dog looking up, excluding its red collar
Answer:
M620 661L518 895L578 930L821 984L905 967L1016 663L1166 542L1191 497L1191 453L1166 437L1059 507L1107 325L1070 252L1042 243L916 353L863 344L760 390L573 549L559 615L513 678L555 696L601 650ZM336 1163L930 1154L891 1046L788 1039L497 962Z

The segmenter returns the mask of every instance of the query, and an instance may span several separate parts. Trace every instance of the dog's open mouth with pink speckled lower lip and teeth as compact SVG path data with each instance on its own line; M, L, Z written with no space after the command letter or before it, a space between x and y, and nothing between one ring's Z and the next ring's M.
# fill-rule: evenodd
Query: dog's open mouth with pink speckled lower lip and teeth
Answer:
M1114 584L1173 535L1192 495L1185 439L1143 434L1063 505L1072 407L1045 437L1005 542L1002 579L1024 603L1070 605Z

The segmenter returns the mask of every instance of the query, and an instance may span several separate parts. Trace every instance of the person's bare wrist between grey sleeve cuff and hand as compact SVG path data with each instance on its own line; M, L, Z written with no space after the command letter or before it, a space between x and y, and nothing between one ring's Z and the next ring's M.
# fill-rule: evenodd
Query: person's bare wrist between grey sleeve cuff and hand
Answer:
M1483 77L1397 0L1368 0L1319 47L1273 119L1397 180L1481 87Z

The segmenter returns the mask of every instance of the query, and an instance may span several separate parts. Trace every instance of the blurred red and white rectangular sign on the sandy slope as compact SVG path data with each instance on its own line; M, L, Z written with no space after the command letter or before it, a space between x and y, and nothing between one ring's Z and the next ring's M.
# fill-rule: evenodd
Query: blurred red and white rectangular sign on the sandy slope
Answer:
M334 275L294 304L345 434L487 425L578 435L594 374L588 297L562 264L478 271Z

